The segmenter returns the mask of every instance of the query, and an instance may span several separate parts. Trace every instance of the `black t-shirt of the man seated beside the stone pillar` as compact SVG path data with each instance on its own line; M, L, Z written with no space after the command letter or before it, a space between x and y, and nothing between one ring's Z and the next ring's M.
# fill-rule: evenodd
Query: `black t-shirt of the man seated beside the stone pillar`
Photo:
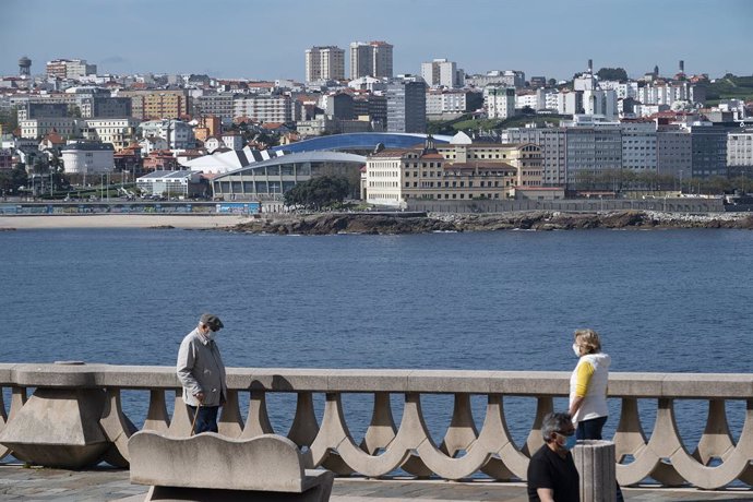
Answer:
M528 464L528 500L540 502L537 488L554 490L555 502L581 502L581 481L573 454L562 458L546 444L530 457Z

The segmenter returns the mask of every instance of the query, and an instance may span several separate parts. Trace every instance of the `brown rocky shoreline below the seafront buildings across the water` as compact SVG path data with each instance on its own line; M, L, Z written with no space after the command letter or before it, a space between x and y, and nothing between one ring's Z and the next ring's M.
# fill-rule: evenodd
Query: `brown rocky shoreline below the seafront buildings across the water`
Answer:
M644 211L605 213L519 212L425 216L370 213L262 216L225 228L227 231L274 235L397 235L494 230L585 230L739 228L753 229L753 216L740 213L689 215Z

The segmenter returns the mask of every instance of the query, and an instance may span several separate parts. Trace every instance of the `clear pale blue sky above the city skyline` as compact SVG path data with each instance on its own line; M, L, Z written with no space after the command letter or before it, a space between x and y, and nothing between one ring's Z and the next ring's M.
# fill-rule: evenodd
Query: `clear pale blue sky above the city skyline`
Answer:
M394 46L394 72L455 61L467 74L522 70L571 79L624 68L753 74L753 0L0 0L0 75L52 59L99 74L304 77L304 51L351 41Z

